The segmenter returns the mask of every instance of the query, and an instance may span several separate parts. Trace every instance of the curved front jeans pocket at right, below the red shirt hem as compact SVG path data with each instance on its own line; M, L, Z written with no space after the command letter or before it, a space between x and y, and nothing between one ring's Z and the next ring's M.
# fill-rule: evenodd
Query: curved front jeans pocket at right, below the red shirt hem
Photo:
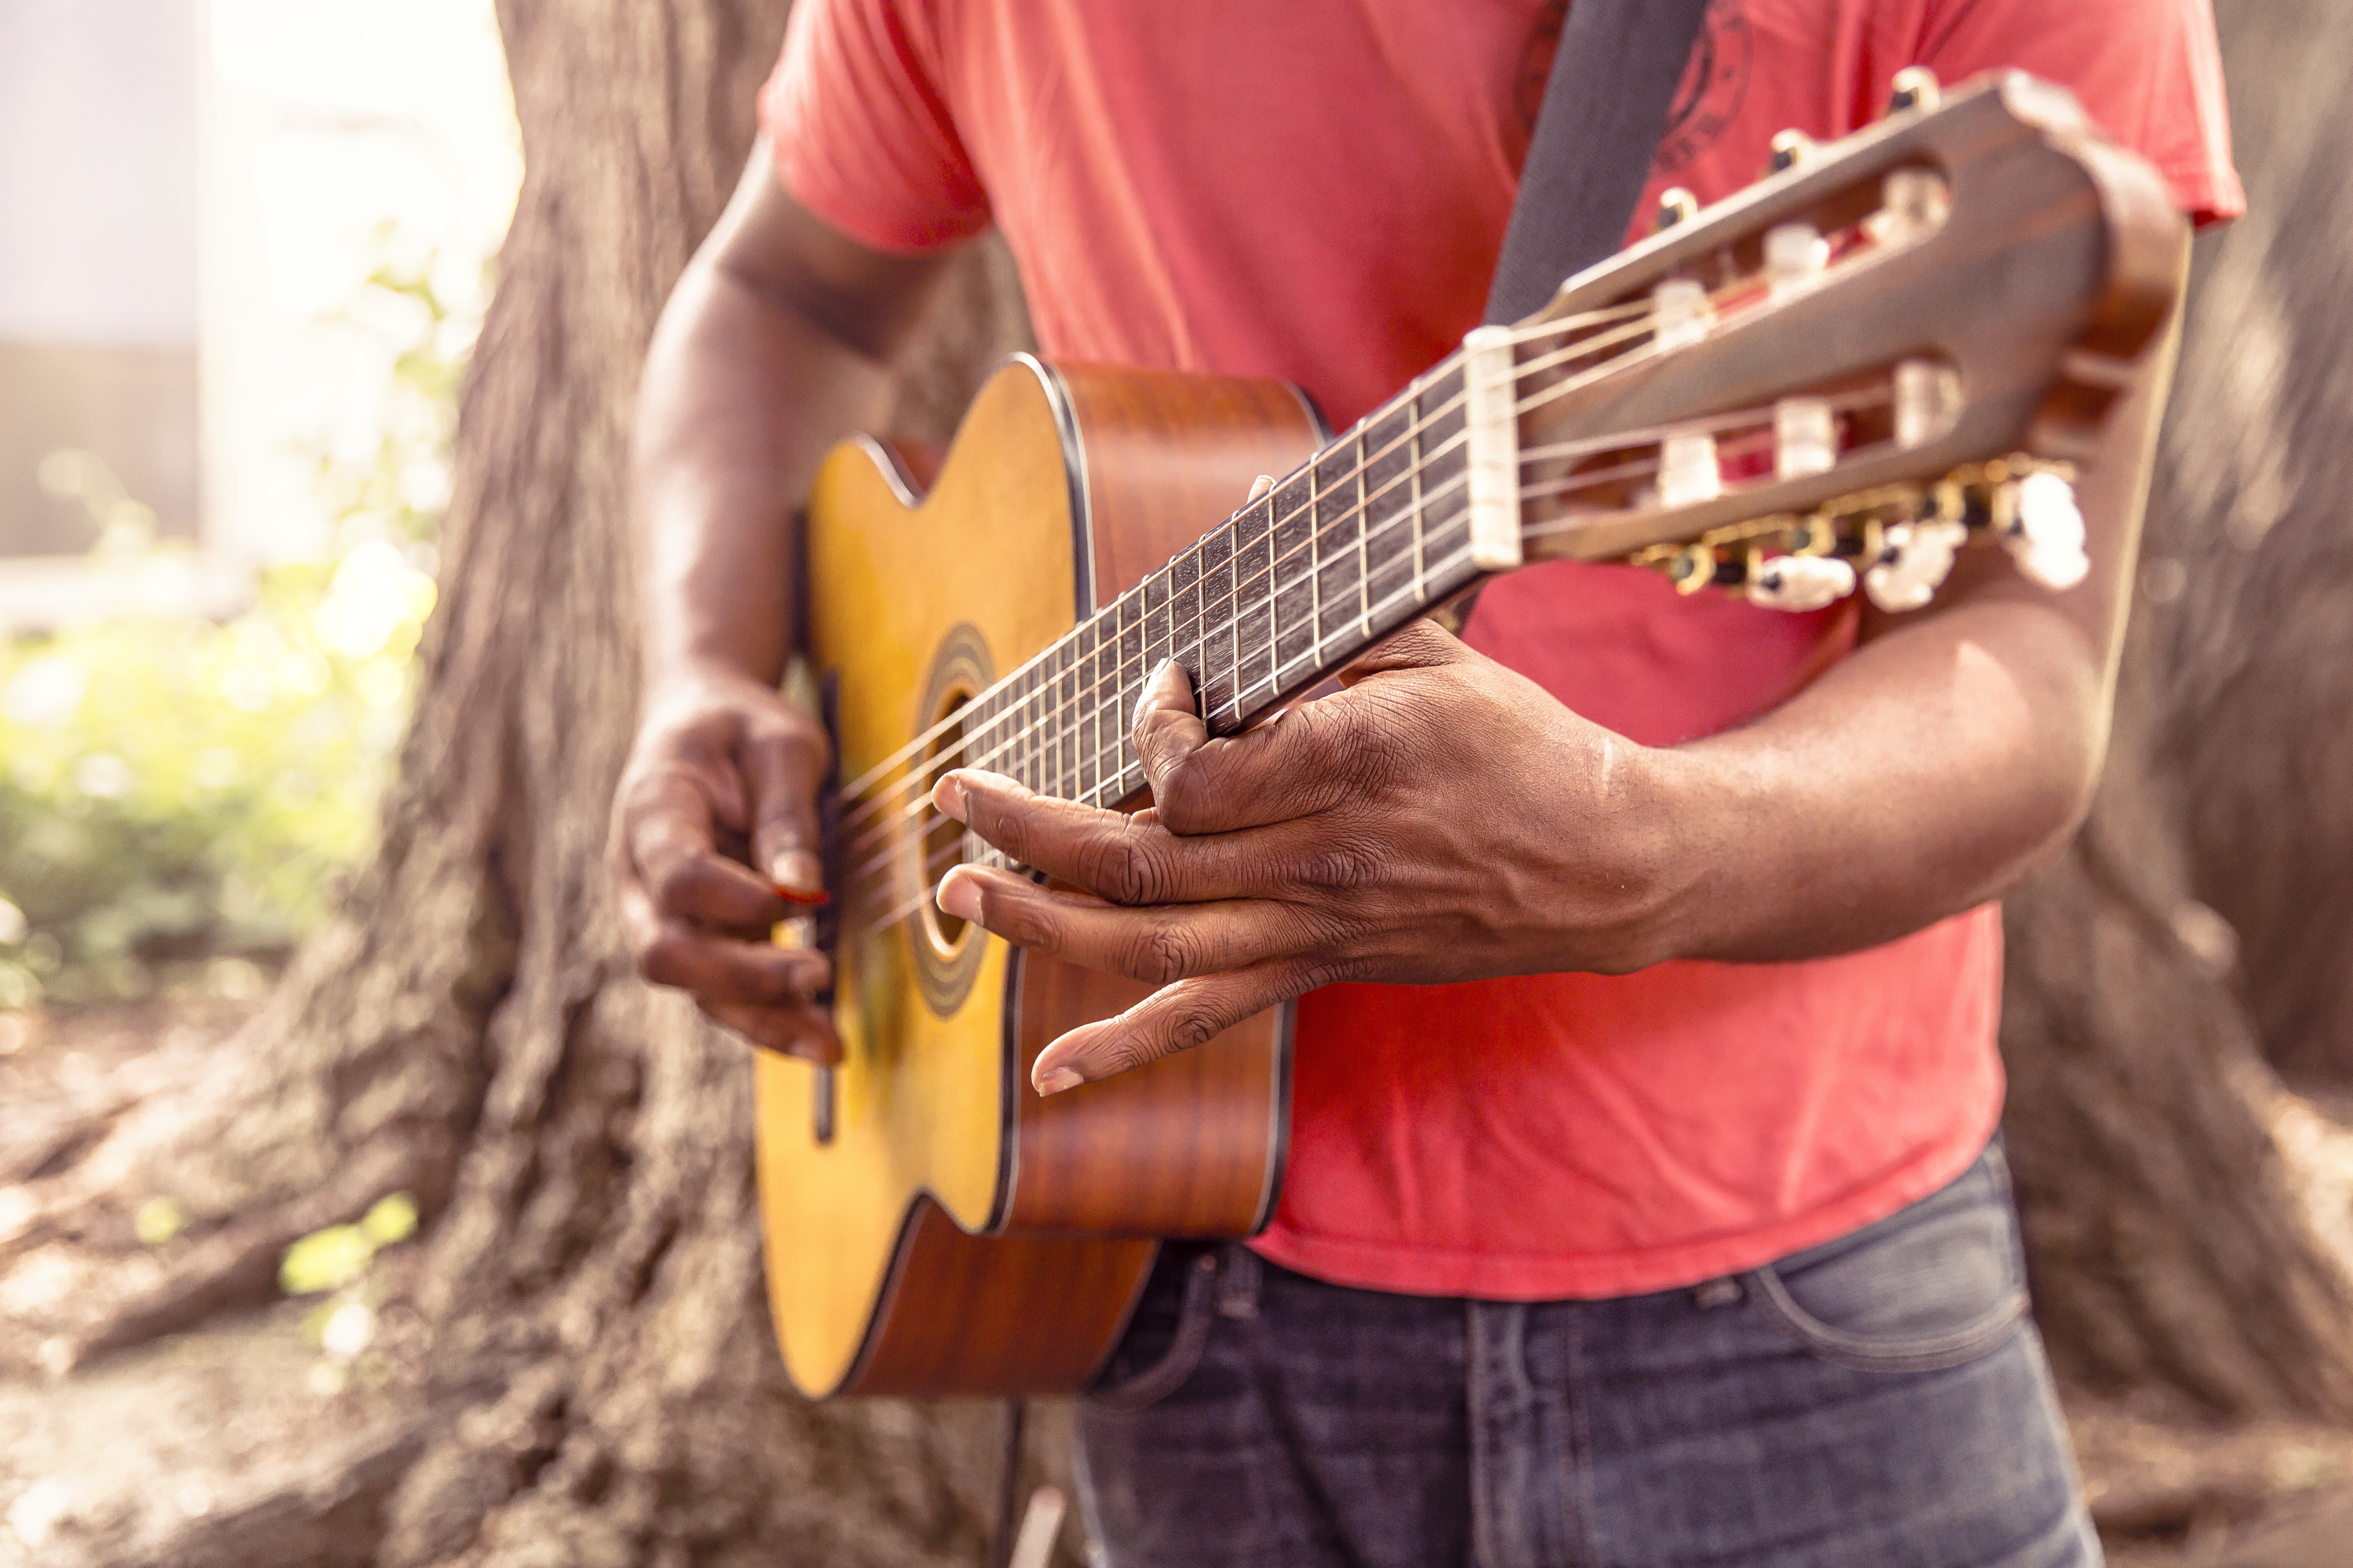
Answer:
M1769 1262L1753 1298L1838 1366L1925 1373L1974 1361L2026 1321L2026 1260L2000 1147L1941 1192Z

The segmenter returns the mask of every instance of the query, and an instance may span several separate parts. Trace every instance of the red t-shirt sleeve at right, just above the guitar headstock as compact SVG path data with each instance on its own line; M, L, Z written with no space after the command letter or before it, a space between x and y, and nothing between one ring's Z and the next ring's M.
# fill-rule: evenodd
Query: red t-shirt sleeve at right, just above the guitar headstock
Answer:
M2002 66L2059 82L2193 219L2247 209L2209 0L1941 0L1920 63L1944 82Z

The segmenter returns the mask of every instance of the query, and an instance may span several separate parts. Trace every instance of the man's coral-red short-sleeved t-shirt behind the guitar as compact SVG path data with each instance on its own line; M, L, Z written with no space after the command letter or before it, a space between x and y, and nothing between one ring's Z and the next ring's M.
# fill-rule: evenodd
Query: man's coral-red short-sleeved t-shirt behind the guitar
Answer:
M866 244L991 221L1047 355L1282 376L1351 423L1478 324L1553 0L800 0L760 110ZM1715 200L1781 127L1922 63L2024 66L2242 205L2205 0L1715 0L1652 193ZM1784 701L1852 621L1624 567L1492 583L1468 642L1647 745ZM1659 964L1299 1004L1278 1262L1433 1295L1624 1295L1760 1265L1960 1173L2000 1114L1988 905L1805 964Z

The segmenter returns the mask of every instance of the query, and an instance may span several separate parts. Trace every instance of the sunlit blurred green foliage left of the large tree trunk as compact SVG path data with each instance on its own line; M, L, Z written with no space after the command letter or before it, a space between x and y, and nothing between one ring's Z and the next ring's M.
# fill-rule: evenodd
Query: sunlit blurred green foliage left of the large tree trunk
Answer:
M329 559L271 567L228 623L136 618L0 639L0 1009L252 992L372 849L433 607L471 324L379 268L334 327L388 355L374 449L320 454ZM136 508L144 512L144 508ZM151 531L96 520L94 564Z

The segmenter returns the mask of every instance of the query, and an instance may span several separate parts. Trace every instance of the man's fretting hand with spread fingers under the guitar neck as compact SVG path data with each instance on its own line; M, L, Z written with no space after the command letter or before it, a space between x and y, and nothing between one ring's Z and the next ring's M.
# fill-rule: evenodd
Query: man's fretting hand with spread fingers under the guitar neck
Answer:
M1657 957L1668 823L1657 752L1579 719L1435 625L1341 691L1207 736L1186 672L1136 705L1136 816L958 769L934 804L1078 891L960 865L941 910L1160 985L1040 1053L1040 1093L1186 1051L1334 980L1442 983Z

